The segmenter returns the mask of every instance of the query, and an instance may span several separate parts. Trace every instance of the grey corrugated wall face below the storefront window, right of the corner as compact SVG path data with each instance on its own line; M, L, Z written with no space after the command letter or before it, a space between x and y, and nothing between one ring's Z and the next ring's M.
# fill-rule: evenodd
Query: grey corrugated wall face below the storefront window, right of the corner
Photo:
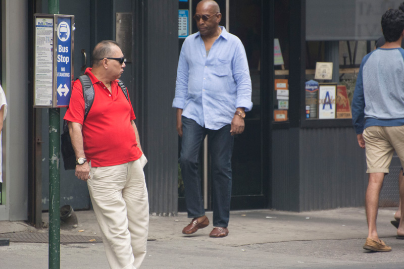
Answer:
M300 130L300 211L362 206L367 184L353 128Z

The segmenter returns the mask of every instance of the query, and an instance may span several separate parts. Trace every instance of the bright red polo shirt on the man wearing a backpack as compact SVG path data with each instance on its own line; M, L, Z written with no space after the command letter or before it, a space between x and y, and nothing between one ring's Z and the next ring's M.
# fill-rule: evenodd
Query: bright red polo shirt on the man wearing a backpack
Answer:
M84 121L84 97L80 80L72 87L69 108L64 117L69 122L80 123L83 134L84 153L92 167L121 165L140 158L135 131L130 124L136 119L130 100L117 81L111 91L87 68L85 74L94 87L94 102ZM84 123L83 123L84 121Z

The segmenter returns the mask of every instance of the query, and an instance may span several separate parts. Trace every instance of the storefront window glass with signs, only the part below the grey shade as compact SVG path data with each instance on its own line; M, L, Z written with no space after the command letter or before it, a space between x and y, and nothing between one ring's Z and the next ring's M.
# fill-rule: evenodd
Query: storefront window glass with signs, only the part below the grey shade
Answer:
M306 42L306 119L350 119L362 58L375 42ZM371 46L372 45L372 46Z

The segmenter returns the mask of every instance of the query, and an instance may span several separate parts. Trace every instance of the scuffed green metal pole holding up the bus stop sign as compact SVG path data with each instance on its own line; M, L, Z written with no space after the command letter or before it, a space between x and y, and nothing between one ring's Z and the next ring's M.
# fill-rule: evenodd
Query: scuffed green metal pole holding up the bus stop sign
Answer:
M59 0L48 0L59 14ZM54 26L55 27L55 26ZM54 78L56 79L56 78ZM49 269L60 268L60 109L49 109Z

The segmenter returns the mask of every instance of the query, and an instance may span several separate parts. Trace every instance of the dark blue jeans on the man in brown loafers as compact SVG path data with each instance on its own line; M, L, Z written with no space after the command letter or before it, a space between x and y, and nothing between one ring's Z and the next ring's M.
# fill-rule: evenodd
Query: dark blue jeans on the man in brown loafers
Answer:
M182 117L182 144L180 166L185 187L185 203L188 218L205 215L201 192L201 179L198 175L198 155L200 144L208 134L208 149L211 156L213 190L213 225L227 227L230 217L231 198L231 155L233 136L230 125L219 130L200 126L194 120Z

